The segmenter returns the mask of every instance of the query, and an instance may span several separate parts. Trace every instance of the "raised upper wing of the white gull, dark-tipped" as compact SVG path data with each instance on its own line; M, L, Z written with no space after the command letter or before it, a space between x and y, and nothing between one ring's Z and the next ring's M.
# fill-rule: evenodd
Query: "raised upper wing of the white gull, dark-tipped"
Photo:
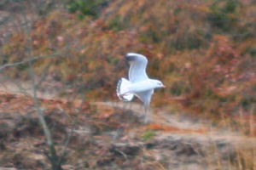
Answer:
M146 67L148 59L142 54L129 53L126 54L126 59L129 61L129 80L131 82L141 82L148 79Z

